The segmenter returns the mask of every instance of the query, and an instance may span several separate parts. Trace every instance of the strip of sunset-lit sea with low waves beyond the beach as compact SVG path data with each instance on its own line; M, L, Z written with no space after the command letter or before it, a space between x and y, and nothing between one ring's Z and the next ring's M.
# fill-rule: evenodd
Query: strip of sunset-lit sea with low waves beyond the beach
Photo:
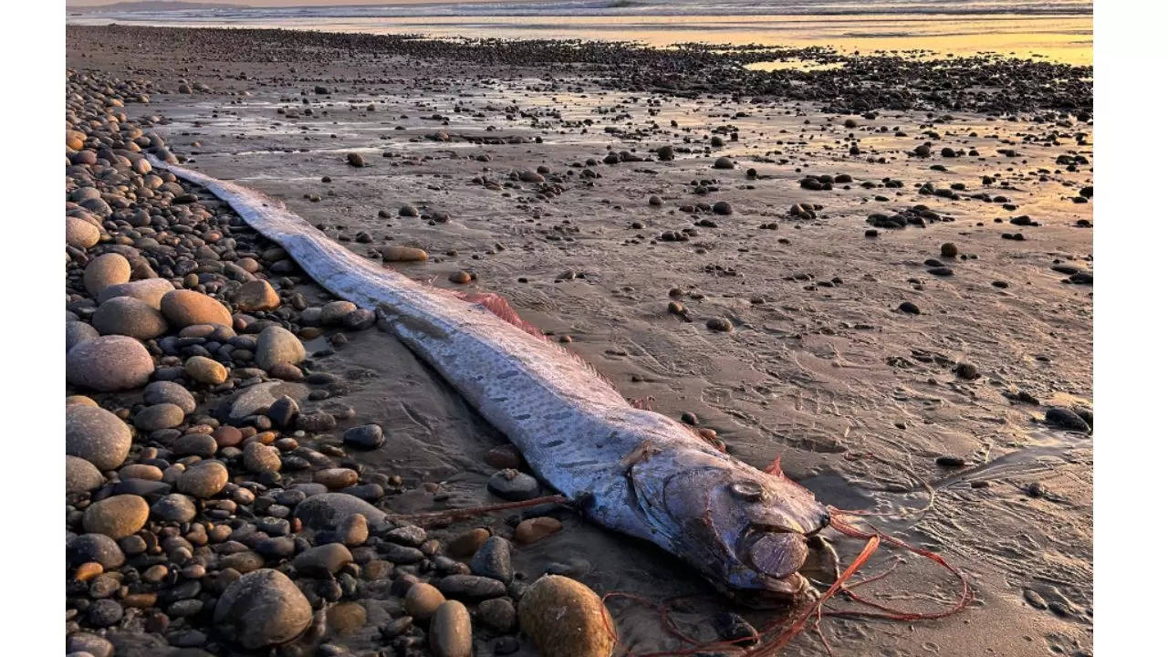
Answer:
M494 4L491 4L494 6ZM857 4L830 4L855 11ZM922 5L916 2L913 5ZM439 39L582 39L635 41L649 46L674 43L758 43L765 46L823 46L862 54L885 50L927 50L933 55L996 53L1017 57L1043 57L1072 64L1092 62L1090 14L999 13L989 4L930 4L934 13L903 12L904 4L863 6L864 13L813 15L797 13L800 6L783 6L783 13L707 13L669 15L661 5L640 7L646 13L593 12L527 15L486 9L460 15L395 15L382 12L310 12L253 9L234 12L137 12L69 16L77 25L110 22L171 27L250 27L315 29L369 34L422 34ZM1003 2L1002 11L1070 9L1077 4ZM527 5L524 5L527 6ZM736 5L739 9L744 7ZM1082 5L1077 5L1082 7ZM958 12L962 7L985 13ZM1090 5L1086 5L1090 8ZM698 7L700 8L700 7ZM764 5L765 8L765 5ZM936 13L937 9L951 13ZM758 9L755 9L756 12ZM903 12L903 13L894 13Z

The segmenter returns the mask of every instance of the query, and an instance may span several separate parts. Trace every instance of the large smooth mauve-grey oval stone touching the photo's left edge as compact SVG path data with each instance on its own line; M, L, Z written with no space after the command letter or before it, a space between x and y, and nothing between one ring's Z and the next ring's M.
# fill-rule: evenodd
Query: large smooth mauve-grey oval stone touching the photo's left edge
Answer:
M65 380L102 392L126 390L146 385L154 360L138 340L127 336L102 336L85 340L65 354Z

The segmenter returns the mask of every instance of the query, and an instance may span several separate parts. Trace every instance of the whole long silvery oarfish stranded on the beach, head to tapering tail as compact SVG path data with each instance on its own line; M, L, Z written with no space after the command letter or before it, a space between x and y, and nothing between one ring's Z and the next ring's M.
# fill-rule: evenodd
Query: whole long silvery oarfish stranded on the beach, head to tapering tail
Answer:
M333 295L381 309L389 327L522 451L590 520L656 544L746 601L802 593L807 537L828 510L684 424L633 407L579 358L484 304L411 281L333 242L283 203L188 168Z

